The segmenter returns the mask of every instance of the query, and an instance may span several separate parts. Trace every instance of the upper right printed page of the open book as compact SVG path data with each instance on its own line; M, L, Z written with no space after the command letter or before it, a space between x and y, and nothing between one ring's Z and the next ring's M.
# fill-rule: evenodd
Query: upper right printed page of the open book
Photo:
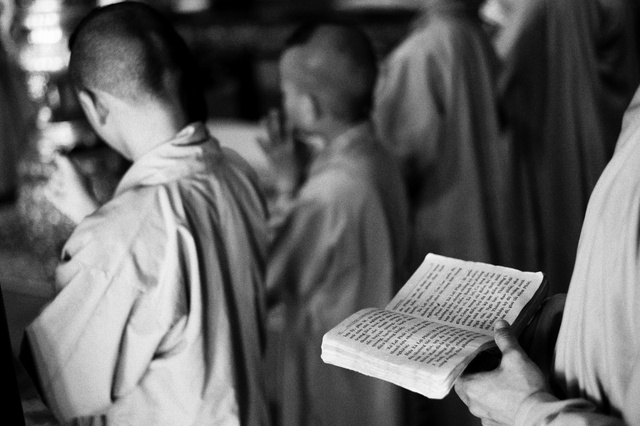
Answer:
M543 280L540 272L429 254L387 309L493 335L513 324Z

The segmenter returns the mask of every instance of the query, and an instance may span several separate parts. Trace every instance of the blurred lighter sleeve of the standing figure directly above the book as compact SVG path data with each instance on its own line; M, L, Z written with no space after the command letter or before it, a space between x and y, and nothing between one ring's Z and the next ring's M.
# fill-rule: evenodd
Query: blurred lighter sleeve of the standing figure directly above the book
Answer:
M384 64L376 88L376 131L410 175L436 160L442 139L444 81L433 50L437 48L429 43L408 40Z

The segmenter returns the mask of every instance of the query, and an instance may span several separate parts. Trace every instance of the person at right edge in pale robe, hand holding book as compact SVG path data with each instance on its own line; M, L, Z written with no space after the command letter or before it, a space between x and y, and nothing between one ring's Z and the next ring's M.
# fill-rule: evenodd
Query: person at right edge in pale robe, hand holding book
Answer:
M598 180L555 347L551 378L496 325L500 366L463 375L456 392L483 424L624 425L640 419L640 91Z

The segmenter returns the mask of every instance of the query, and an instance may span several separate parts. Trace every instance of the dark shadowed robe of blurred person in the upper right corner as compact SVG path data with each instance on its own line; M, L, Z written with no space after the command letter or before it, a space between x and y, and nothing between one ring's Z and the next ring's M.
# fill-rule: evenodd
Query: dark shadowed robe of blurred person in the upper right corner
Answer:
M500 102L530 194L536 269L567 291L589 195L638 83L628 0L522 0L496 40Z

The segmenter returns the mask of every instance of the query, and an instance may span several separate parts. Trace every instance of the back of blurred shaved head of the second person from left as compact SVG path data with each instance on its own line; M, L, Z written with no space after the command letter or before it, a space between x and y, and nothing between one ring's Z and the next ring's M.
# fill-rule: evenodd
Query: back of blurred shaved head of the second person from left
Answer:
M377 78L369 38L340 23L313 23L288 39L281 78L314 95L334 117L357 122L369 117Z

